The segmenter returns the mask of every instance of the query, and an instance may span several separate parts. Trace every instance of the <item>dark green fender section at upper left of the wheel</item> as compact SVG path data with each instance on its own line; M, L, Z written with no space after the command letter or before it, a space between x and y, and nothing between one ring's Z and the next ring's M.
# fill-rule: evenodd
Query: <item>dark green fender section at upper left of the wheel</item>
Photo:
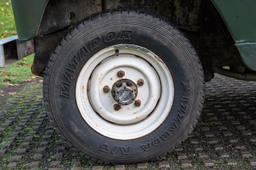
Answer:
M48 1L12 0L15 24L20 40L28 40L36 35Z

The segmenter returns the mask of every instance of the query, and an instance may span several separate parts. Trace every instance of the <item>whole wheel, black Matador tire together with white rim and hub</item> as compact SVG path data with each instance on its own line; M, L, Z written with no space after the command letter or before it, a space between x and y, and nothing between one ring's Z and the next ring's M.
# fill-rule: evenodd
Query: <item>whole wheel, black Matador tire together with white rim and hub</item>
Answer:
M189 40L136 10L104 11L77 24L44 76L45 106L61 137L88 159L111 164L172 151L193 131L204 88Z

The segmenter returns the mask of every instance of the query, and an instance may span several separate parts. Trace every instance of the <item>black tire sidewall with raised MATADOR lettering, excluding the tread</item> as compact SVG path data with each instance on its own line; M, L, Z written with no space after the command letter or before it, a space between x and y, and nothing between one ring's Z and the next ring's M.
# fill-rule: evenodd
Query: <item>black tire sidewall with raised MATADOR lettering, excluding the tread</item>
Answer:
M153 159L184 139L189 131L188 125L195 121L195 110L198 108L193 106L193 102L200 94L194 90L198 87L194 85L194 74L191 74L188 64L191 56L182 44L184 36L176 34L176 30L172 31L173 27L170 30L156 28L157 24L149 22L145 24L147 27L138 22L124 22L116 27L109 20L114 19L91 23L85 28L83 25L78 27L74 31L76 34L69 36L70 40L58 55L54 55L54 66L49 73L52 116L63 136L87 155L107 162ZM109 37L110 33L112 37ZM77 109L76 80L84 64L100 50L118 44L138 45L156 53L170 70L175 87L172 110L164 123L139 139L116 140L102 136L86 124Z

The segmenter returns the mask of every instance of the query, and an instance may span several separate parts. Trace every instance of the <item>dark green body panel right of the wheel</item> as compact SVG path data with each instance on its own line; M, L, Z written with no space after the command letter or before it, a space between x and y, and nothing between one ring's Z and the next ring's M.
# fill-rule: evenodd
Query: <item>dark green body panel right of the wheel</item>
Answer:
M220 11L244 64L256 71L256 1L212 0Z

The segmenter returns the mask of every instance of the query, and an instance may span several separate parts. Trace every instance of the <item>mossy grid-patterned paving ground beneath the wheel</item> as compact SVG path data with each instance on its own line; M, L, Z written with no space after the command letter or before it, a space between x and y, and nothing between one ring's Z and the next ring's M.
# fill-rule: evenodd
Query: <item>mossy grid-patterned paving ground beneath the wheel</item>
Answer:
M202 116L158 162L102 166L72 152L44 110L42 83L26 83L0 106L0 169L256 169L256 82L216 75Z

